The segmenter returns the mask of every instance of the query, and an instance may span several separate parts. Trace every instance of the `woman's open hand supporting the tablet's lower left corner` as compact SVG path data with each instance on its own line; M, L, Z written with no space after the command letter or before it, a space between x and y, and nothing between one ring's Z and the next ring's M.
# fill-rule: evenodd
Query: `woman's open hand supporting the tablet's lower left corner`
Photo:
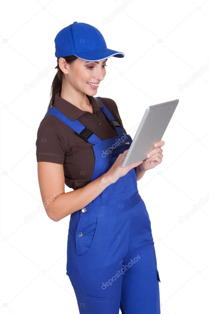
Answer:
M119 154L114 164L107 171L107 175L111 183L115 183L120 177L125 176L129 170L131 170L134 167L137 167L143 162L143 160L140 160L138 162L135 162L132 165L122 168L121 165L123 164L123 160L125 159L127 153L128 153L128 149L124 150L122 154Z

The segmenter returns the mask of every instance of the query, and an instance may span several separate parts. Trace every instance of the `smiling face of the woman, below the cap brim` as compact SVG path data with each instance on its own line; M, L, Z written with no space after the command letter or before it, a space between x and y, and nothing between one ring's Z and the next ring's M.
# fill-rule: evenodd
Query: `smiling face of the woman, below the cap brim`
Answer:
M98 86L89 83L100 84L106 75L106 61L86 61L77 58L73 63L67 64L69 69L66 79L73 88L87 95L97 94ZM88 83L87 83L88 82Z

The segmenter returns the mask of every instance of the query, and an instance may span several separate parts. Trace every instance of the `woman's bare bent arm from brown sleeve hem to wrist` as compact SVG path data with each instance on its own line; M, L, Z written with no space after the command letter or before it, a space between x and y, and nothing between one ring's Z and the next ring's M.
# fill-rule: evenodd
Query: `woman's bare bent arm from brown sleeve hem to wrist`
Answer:
M85 207L111 184L106 172L85 187L65 193L63 165L46 161L38 162L38 180L44 208L54 221Z

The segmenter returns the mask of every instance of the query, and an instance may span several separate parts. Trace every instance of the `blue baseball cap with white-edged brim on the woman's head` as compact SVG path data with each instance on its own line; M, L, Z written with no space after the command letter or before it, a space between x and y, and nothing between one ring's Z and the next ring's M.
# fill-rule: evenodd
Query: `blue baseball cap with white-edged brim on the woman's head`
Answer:
M87 61L125 56L123 52L108 49L104 37L96 27L78 22L63 28L55 37L55 57L71 55Z

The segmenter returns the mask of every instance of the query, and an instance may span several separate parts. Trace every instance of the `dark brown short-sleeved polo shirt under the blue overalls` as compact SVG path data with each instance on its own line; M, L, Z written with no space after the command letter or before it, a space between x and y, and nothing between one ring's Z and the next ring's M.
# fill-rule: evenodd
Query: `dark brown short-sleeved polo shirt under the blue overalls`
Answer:
M83 111L60 98L60 93L55 95L54 106L71 120L76 119L81 122L101 140L117 136L116 130L111 127L105 114L100 109L103 107L100 101L96 100L93 96L87 95L87 97L93 107L93 113ZM115 101L110 98L98 98L123 128ZM124 128L123 132L126 133ZM40 122L37 132L37 162L48 161L63 165L65 184L76 190L84 187L91 181L95 163L92 145L92 143L85 142L77 136L70 127L61 122L57 117L47 115Z

